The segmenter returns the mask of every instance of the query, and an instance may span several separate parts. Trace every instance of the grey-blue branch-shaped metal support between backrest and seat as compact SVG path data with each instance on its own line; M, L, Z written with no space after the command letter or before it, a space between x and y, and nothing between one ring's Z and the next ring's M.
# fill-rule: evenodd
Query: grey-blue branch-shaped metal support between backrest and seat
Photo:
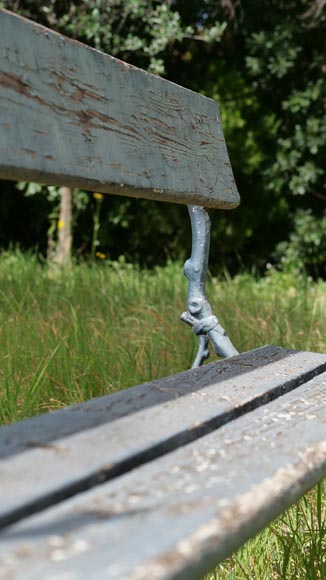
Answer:
M199 367L209 357L208 342L221 357L239 354L228 338L218 318L213 314L205 294L208 267L211 220L204 207L188 205L192 230L191 257L185 262L188 279L188 311L180 316L193 327L198 336L198 350L192 368Z

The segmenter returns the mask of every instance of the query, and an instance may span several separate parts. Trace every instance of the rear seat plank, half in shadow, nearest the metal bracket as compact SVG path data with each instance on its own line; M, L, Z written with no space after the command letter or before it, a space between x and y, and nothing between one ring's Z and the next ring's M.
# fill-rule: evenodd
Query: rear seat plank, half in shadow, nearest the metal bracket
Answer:
M325 355L265 347L4 427L0 525L176 449L324 370Z

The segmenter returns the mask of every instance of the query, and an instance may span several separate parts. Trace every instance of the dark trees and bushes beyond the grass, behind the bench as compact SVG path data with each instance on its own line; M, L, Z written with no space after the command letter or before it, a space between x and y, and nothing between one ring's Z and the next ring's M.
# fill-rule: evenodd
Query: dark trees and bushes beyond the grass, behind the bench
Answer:
M216 99L242 197L213 212L211 264L324 276L325 0L4 0L26 15ZM324 148L325 149L325 148ZM55 188L1 184L0 247L46 254ZM26 197L26 192L28 196ZM189 252L182 206L74 192L75 255L146 266ZM97 212L97 213L96 213ZM94 240L94 216L99 220Z

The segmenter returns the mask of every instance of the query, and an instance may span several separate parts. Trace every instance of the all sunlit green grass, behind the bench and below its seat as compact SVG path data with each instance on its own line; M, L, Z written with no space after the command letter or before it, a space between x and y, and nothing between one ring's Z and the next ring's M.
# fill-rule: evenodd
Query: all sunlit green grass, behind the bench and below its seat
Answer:
M277 272L211 278L208 295L238 350L263 344L326 352L326 283ZM181 266L120 263L58 272L0 255L2 424L188 368L196 344L178 321ZM248 542L206 580L326 578L325 485Z

